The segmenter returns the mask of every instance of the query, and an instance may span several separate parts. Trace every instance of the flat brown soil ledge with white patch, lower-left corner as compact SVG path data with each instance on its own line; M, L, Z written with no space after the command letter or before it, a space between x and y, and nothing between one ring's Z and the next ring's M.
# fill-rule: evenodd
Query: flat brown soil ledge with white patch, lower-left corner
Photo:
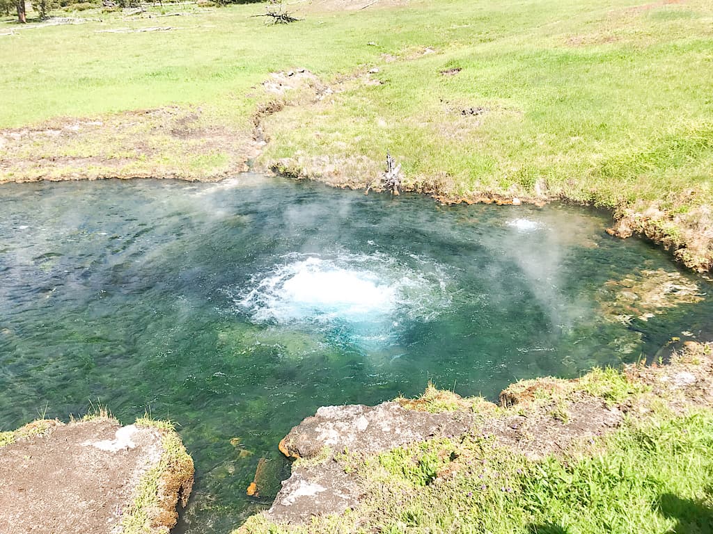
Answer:
M41 419L0 433L0 532L168 533L193 461L168 424Z

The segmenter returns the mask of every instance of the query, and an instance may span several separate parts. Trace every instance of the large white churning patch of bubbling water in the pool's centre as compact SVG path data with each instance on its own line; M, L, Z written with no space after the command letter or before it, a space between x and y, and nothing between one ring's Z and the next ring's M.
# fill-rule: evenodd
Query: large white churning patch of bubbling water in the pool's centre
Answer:
M415 269L381 253L332 258L289 254L254 276L235 300L258 323L384 325L430 320L450 303L441 268L419 258Z

